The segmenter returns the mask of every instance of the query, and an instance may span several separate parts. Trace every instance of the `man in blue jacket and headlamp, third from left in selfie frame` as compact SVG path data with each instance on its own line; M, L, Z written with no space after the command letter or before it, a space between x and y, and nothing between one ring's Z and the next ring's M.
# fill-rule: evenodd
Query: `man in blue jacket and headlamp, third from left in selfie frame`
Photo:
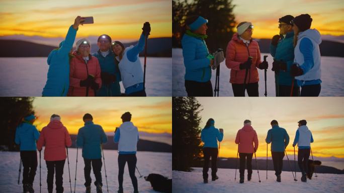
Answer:
M102 87L97 91L97 96L120 96L121 73L118 67L119 61L115 59L111 47L111 37L103 34L98 38L99 50L92 54L98 58L101 66Z

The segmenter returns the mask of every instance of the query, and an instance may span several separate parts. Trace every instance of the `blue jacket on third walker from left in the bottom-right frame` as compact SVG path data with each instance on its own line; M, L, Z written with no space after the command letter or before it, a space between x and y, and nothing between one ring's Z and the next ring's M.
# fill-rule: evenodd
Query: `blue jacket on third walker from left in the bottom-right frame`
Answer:
M274 125L268 131L265 141L271 143L271 151L284 152L286 146L289 144L289 135L284 128Z

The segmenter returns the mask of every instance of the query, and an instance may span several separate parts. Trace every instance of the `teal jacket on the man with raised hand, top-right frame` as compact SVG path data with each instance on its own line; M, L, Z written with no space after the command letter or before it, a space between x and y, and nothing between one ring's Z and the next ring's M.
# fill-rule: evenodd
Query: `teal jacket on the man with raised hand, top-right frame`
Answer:
M277 47L270 44L270 54L279 61L287 63L287 70L279 71L279 84L290 86L292 83L292 76L290 75L290 67L294 62L294 32L288 32L284 39L281 39ZM277 83L277 75L275 74L275 83ZM297 86L297 81L294 81L294 86Z

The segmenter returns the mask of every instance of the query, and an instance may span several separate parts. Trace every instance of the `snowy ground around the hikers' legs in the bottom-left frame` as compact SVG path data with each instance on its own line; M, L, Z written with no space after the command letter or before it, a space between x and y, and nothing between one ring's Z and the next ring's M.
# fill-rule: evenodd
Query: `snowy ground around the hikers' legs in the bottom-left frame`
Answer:
M44 150L43 150L44 151ZM46 164L43 159L42 151L42 192L47 192L47 169ZM76 160L76 149L70 148L69 152L69 167L70 167L70 177L72 181L72 190L74 189L74 178L75 178L75 160ZM117 157L118 153L115 150L104 150L105 153L105 163L106 171L108 176L109 192L117 192L118 190L118 163ZM38 154L38 152L37 152ZM171 153L157 153L157 152L137 152L137 167L143 176L149 173L159 173L168 178L172 177L171 164L172 164L172 154ZM0 152L0 157L2 158L2 164L0 165L0 192L22 192L22 184L17 184L18 181L18 169L19 169L19 152ZM102 159L103 160L103 159ZM84 176L83 176L83 159L81 157L81 151L78 152L78 165L77 165L77 176L76 176L76 191L84 192L85 187ZM38 154L38 164L39 164L39 154ZM23 172L23 170L22 170ZM91 172L92 177L92 192L96 192L96 186L94 185L95 177L93 172ZM106 192L106 178L104 172L104 163L102 167L102 177L103 177L103 192ZM136 171L136 177L138 181L139 192L155 192L150 183L145 181L144 178L140 178L138 172ZM21 175L21 180L23 175ZM70 192L69 186L69 176L68 176L68 165L67 160L64 165L63 171L63 187L64 192ZM124 181L123 181L124 192L133 192L133 186L128 173L128 166L126 164L124 170ZM34 181L35 192L39 192L39 165L36 171L36 177ZM55 184L54 184L55 189Z

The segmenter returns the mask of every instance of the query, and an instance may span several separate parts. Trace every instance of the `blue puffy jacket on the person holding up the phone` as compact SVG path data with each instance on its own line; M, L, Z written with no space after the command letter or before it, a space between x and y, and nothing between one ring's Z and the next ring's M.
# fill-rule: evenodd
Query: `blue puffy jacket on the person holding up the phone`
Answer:
M69 27L66 39L59 49L54 49L48 56L47 82L43 96L66 96L69 88L69 52L73 47L76 31Z

